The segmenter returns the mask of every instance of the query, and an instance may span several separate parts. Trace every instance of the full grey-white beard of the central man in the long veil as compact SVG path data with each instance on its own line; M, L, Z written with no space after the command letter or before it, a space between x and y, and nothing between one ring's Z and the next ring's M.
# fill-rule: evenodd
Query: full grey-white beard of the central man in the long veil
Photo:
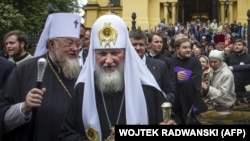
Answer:
M122 91L124 86L123 78L123 65L114 72L105 72L96 65L95 84L102 93Z

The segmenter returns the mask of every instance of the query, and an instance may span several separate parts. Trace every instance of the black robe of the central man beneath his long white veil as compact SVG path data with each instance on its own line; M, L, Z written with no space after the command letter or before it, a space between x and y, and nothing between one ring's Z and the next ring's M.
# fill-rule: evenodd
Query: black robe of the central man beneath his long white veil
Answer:
M150 86L142 85L146 98L149 124L158 125L163 121L161 104L166 102L163 94ZM59 135L63 141L82 141L87 140L85 135L85 129L82 120L82 101L83 101L84 84L79 83L76 87L76 94L72 97L72 103L70 105L68 114L66 115L65 122L62 124L62 131ZM105 103L107 105L108 115L112 125L116 124L119 108L123 92L106 95L104 94ZM100 118L101 131L103 139L106 139L110 134L109 124L107 116L105 114L101 93L96 89L96 104L97 111ZM91 108L91 107L90 107ZM122 112L118 124L125 125L125 101L122 107Z

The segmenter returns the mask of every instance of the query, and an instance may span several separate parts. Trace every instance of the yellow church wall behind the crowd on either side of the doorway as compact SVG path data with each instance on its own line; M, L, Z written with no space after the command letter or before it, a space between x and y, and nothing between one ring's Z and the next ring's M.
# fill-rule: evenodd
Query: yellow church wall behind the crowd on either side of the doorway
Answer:
M141 26L143 30L152 29L160 23L162 18L166 19L167 23L176 22L177 9L171 7L173 15L169 16L166 8L167 0L121 0L121 7L107 7L108 0L90 0L90 2L97 3L99 7L85 7L85 25L91 26L94 21L101 15L105 14L109 9L115 11L119 16L121 16L127 26L131 29L133 12L136 12L136 27ZM218 0L219 2L226 2L226 0ZM225 15L224 10L219 7L218 14L219 19L222 23L226 20L229 23L236 20L237 22L247 23L247 10L250 9L250 0L229 0L231 7L229 7L228 17L223 17ZM168 0L172 5L176 6L178 0ZM171 18L170 18L171 17Z

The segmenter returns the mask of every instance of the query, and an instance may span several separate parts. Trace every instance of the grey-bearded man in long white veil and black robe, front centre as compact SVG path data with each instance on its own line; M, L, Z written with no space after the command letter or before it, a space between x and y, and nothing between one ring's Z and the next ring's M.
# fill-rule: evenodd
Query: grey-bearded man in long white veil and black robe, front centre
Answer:
M115 125L163 121L164 94L117 15L106 14L94 23L75 92L59 135L63 141L114 139Z

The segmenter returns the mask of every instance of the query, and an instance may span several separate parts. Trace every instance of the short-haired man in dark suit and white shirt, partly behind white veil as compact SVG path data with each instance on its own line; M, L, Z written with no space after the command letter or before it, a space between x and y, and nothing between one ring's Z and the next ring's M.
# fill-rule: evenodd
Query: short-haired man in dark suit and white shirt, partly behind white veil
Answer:
M153 74L160 88L166 93L167 99L170 100L169 102L173 103L175 98L175 83L171 80L172 76L171 73L168 73L169 68L166 63L145 55L146 36L142 31L130 31L129 38L137 54Z

